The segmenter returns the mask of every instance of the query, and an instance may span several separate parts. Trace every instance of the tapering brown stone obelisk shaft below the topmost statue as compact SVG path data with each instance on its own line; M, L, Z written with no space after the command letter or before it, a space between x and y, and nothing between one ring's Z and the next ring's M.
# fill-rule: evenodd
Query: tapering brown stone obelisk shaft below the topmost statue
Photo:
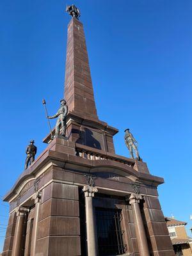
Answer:
M65 99L69 111L98 119L83 24L77 19L68 24Z

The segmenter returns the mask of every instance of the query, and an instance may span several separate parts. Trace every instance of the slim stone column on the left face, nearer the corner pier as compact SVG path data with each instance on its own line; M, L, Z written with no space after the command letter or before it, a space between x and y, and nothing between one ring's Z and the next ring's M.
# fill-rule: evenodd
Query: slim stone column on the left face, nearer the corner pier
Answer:
M42 197L42 192L36 192L31 200L35 200L35 218L34 218L34 225L33 225L33 244L32 244L32 253L31 256L35 256L35 249L36 249L36 239L37 239L37 231L38 231L38 220L40 214L40 200Z

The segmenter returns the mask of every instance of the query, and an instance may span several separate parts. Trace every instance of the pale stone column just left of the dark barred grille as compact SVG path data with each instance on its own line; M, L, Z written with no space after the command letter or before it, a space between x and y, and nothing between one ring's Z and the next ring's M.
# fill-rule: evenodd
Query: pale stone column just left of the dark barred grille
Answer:
M93 196L97 188L87 185L83 188L86 209L86 241L88 256L97 256L97 234L95 227L95 213L93 210Z

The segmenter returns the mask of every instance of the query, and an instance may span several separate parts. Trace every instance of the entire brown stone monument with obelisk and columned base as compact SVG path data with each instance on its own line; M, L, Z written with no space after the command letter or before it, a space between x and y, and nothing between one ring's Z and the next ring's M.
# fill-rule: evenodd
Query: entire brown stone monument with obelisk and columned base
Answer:
M164 180L139 157L115 154L118 130L97 116L80 12L74 5L67 12L67 140L52 131L4 196L3 256L173 256L157 193Z

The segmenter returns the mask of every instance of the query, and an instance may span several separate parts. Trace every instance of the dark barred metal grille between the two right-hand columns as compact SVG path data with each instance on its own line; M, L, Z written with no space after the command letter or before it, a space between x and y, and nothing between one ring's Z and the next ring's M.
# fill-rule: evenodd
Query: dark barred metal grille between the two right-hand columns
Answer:
M125 253L121 230L122 214L116 209L96 208L99 256Z

